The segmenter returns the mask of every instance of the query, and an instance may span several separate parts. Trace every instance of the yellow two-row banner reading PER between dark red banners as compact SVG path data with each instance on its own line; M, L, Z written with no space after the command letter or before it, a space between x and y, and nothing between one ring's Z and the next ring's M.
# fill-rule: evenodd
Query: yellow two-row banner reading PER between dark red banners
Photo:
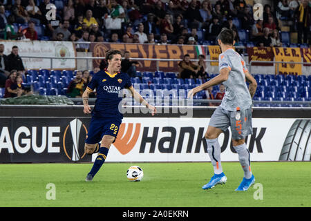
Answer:
M275 61L301 62L300 48L273 48ZM301 64L276 64L275 73L280 75L302 75ZM278 73L279 70L279 73Z

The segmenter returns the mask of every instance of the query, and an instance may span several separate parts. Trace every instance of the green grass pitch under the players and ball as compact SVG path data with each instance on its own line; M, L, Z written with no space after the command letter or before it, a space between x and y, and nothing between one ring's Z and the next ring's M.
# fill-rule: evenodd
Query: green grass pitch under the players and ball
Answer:
M311 162L252 162L262 189L236 192L243 171L223 162L225 185L204 191L213 171L200 163L106 163L93 182L84 182L93 164L0 164L0 206L311 206ZM129 182L126 170L138 165L142 182ZM55 200L47 200L48 184ZM262 190L262 191L261 191ZM254 199L254 195L262 200Z

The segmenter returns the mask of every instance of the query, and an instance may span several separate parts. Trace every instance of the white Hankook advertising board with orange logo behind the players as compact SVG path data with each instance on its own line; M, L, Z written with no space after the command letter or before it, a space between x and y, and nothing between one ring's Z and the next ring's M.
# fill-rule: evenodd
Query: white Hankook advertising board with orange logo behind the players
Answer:
M253 119L254 133L246 141L252 161L278 161L295 120ZM208 124L209 118L124 118L107 162L209 161L205 140L202 140ZM238 161L238 155L230 145L230 129L218 140L221 160Z

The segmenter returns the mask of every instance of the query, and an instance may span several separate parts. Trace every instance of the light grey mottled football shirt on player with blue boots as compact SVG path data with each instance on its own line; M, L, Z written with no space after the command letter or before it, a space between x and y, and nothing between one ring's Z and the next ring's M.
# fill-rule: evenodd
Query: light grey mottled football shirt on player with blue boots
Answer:
M219 71L223 68L229 68L230 72L227 81L223 81L226 91L220 106L227 111L236 111L237 108L242 111L251 108L252 97L245 83L247 68L241 55L232 48L221 53Z

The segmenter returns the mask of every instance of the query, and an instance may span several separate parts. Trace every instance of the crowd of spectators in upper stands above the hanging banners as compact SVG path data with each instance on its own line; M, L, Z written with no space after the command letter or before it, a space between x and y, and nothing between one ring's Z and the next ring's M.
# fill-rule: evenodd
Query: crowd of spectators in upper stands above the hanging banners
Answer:
M55 20L46 17L48 3L57 10ZM271 1L263 20L254 21L245 0L2 0L1 39L84 41L147 44L215 44L221 28L234 30L236 45L246 40L255 46L281 46L283 21L298 33L298 44L310 44L311 2ZM50 15L50 14L48 14ZM44 27L39 31L38 27ZM245 36L239 30L247 30Z

